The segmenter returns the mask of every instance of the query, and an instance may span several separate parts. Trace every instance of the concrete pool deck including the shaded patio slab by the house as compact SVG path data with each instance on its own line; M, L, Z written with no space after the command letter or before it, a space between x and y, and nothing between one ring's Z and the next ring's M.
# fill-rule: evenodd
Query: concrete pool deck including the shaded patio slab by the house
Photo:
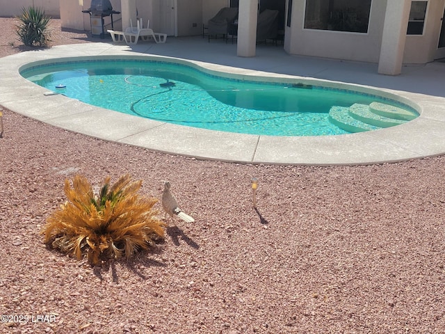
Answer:
M19 68L27 63L94 56L168 56L193 61L209 70L241 75L296 77L344 88L357 84L355 90L366 93L378 88L383 96L410 100L420 116L404 125L359 134L234 134L157 122L63 95L48 95L49 90L19 75ZM108 40L62 45L7 56L0 59L0 65L1 106L56 127L161 152L248 164L314 165L373 164L445 153L445 63L407 66L400 76L388 77L377 74L376 64L291 56L282 47L270 45L259 45L255 57L241 58L236 56L236 45L194 37L168 38L165 44L140 42L131 47L113 45Z

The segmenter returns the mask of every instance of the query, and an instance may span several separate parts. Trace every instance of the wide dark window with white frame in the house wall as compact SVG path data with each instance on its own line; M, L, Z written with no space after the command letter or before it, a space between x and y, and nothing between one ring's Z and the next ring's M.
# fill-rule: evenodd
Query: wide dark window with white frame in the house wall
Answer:
M306 0L305 29L367 33L371 0Z

